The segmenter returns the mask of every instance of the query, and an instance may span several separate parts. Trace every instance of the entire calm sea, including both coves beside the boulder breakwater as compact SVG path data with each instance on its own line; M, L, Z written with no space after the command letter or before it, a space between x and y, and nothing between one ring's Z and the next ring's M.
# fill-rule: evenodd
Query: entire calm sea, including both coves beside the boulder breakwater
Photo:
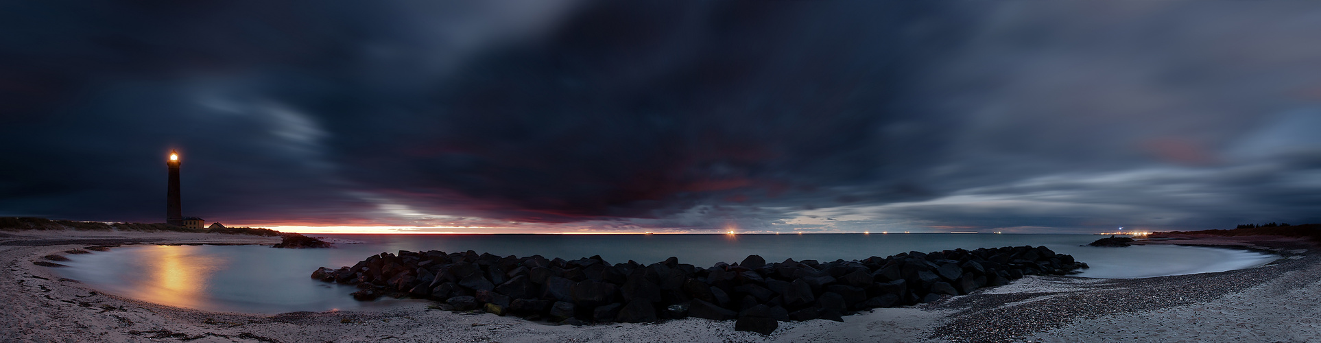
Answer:
M318 266L353 265L369 255L398 251L476 251L494 255L565 260L601 255L614 264L643 264L676 256L680 263L709 266L748 255L766 261L859 260L908 251L975 249L1046 245L1087 263L1079 276L1152 277L1222 272L1258 266L1275 257L1263 253L1198 247L1079 247L1095 235L313 235L362 241L333 249L275 249L260 245L136 245L110 252L70 255L63 277L106 293L207 311L288 313L396 306L417 301L357 302L351 286L312 280Z

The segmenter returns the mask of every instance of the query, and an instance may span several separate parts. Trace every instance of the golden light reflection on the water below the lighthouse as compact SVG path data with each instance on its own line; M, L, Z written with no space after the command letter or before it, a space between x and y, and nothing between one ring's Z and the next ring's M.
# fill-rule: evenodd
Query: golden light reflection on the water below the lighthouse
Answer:
M133 298L178 307L197 307L206 301L205 290L213 270L225 259L190 255L184 245L157 245L144 249L140 260L148 277L135 288Z

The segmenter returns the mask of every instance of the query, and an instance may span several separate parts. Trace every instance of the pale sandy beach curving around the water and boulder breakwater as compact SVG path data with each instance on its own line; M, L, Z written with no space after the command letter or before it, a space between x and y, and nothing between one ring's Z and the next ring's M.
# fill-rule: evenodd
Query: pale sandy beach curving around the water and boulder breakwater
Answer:
M708 319L550 326L416 305L277 315L155 305L61 278L41 256L107 244L273 244L275 237L20 231L0 236L0 335L13 342L1314 342L1321 264L1304 240L1184 237L1144 244L1239 245L1260 268L1135 280L1026 277L939 302L782 322L771 335ZM1123 248L1116 248L1123 249Z

